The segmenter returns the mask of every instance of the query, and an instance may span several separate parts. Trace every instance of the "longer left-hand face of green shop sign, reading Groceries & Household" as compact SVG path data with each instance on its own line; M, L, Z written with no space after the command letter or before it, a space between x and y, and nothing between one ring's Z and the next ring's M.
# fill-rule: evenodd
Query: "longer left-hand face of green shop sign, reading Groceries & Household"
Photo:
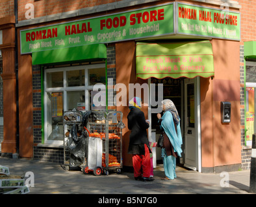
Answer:
M21 54L174 34L173 3L21 30Z

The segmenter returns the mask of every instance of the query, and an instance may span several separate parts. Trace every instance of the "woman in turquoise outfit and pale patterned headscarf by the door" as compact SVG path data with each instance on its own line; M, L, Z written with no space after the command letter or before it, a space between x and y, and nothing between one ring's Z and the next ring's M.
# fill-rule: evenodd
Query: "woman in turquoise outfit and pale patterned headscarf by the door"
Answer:
M180 118L174 103L165 99L162 101L163 116L157 114L159 118L160 128L164 136L162 147L162 160L164 164L164 179L172 180L176 178L176 158L181 157L182 136Z

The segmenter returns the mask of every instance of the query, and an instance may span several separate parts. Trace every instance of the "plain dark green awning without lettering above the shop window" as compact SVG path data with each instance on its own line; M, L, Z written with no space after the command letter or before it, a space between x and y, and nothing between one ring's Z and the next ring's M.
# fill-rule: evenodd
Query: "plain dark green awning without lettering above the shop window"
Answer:
M78 47L32 52L32 65L96 61L106 58L107 47L104 44L83 45Z

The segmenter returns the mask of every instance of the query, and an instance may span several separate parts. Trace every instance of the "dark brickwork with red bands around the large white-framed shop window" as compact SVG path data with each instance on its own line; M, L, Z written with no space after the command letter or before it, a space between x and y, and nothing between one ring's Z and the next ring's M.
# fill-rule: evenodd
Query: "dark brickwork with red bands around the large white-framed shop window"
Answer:
M41 69L38 65L32 66L33 87L33 133L34 133L34 160L63 163L63 147L42 146L42 105L41 105ZM112 78L110 85L116 84L116 50L114 44L107 47L107 78ZM110 107L114 109L115 107Z

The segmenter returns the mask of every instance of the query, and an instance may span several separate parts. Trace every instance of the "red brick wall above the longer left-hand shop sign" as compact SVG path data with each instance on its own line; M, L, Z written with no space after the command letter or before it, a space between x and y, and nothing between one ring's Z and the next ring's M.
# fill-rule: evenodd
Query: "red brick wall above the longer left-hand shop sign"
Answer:
M81 8L105 5L117 1L121 0L19 0L18 20L21 21L26 19L25 12L27 12L28 9L25 8L25 5L27 5L27 3L32 3L34 5L34 17L36 18L62 12L70 12Z

